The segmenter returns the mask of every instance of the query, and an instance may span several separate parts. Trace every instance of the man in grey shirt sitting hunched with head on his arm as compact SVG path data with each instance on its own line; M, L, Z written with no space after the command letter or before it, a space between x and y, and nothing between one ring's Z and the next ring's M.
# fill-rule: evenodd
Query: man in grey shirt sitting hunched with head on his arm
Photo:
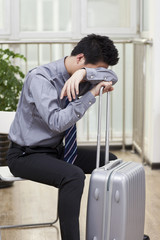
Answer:
M113 90L117 76L108 67L117 62L113 42L91 34L71 56L29 71L24 82L9 132L8 165L15 176L59 188L62 240L80 239L85 173L95 168L94 154L77 149L75 123L95 103L102 86L104 93Z

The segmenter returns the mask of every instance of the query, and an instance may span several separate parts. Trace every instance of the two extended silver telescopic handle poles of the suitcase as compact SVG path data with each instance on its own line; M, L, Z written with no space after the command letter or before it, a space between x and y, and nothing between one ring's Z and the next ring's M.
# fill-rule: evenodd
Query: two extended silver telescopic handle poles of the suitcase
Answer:
M99 165L100 165L101 118L102 118L102 93L103 93L103 88L104 87L101 87L100 92L99 92L96 168L99 168ZM106 132L105 132L105 164L107 164L109 162L109 95L110 95L110 93L107 92Z

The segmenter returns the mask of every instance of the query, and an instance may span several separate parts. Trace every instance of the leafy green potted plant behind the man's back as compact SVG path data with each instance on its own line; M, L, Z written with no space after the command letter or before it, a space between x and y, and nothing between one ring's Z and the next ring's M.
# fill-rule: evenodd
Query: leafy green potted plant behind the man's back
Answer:
M0 111L15 111L22 90L24 74L14 59L26 61L21 54L0 49Z

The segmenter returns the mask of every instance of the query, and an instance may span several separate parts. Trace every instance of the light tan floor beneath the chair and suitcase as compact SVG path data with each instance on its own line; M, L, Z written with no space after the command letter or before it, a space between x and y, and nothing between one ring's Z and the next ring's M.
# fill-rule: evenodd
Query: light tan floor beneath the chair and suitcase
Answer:
M130 151L114 152L125 161L140 162ZM160 170L146 172L146 220L145 233L151 240L160 239ZM80 213L81 240L85 240L87 175ZM0 189L0 224L52 221L56 213L57 190L31 181L16 182L11 188ZM1 230L0 240L60 240L59 224L54 227ZM129 239L128 239L129 240Z

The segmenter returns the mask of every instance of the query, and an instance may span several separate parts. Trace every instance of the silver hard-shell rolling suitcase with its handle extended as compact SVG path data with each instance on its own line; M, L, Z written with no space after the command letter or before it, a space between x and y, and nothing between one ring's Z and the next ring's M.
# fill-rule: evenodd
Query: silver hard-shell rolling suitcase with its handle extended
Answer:
M86 240L143 240L145 173L142 164L109 162L109 94L107 93L105 166L99 167L101 96L99 96L97 166L91 174Z

